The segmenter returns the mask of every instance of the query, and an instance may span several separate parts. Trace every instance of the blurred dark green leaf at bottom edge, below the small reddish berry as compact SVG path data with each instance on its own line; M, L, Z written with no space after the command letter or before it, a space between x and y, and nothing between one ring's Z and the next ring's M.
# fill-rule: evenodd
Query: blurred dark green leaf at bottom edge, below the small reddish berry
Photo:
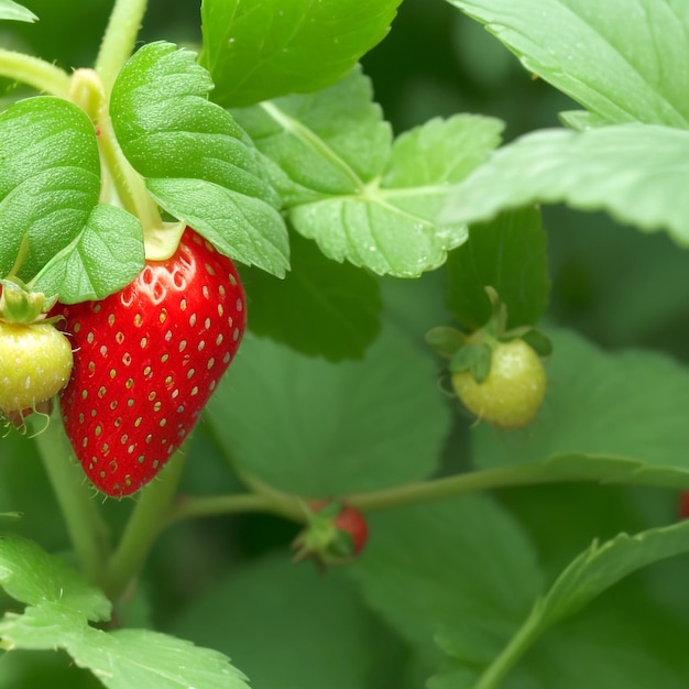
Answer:
M231 654L256 688L393 689L397 644L341 573L281 551L196 597L174 631Z

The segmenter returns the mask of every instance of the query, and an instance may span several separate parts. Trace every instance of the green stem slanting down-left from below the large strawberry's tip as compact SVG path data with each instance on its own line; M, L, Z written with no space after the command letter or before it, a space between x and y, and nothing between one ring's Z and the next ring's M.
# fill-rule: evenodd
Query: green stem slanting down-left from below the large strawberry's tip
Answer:
M160 479L152 481L139 494L139 502L105 575L105 590L111 600L117 600L127 590L143 567L177 493L184 459L184 451L178 450L165 466Z

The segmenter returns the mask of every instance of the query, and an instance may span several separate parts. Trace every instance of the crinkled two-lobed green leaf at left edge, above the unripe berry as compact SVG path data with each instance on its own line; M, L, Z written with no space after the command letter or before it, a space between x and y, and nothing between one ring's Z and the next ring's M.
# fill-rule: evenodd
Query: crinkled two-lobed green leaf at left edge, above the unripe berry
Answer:
M29 240L19 276L68 302L102 298L143 265L139 221L98 207L94 125L75 105L47 96L0 114L0 275Z

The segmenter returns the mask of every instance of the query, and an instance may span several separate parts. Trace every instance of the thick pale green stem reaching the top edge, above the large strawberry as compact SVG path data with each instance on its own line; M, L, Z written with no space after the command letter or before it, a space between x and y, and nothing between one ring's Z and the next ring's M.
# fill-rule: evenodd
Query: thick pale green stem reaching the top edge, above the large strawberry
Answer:
M117 0L96 58L96 72L109 94L122 65L134 51L147 0Z

